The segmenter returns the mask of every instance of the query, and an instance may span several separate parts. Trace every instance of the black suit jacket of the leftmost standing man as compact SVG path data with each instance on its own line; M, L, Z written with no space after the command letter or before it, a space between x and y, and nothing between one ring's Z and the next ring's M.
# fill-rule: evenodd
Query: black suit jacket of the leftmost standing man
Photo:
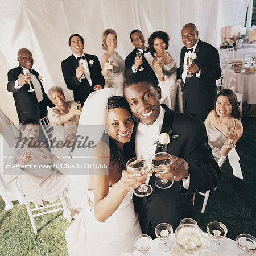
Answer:
M13 93L16 110L19 117L19 123L28 117L33 117L36 119L43 118L47 115L46 106L51 108L54 106L44 92L42 82L38 79L39 74L34 69L31 70L31 73L36 76L36 79L38 79L43 92L43 100L41 102L38 103L35 92L28 92L30 89L28 84L23 85L19 90L14 88L15 81L18 79L19 74L22 73L22 70L23 69L20 67L20 65L17 68L11 69L8 72L7 84L7 90Z

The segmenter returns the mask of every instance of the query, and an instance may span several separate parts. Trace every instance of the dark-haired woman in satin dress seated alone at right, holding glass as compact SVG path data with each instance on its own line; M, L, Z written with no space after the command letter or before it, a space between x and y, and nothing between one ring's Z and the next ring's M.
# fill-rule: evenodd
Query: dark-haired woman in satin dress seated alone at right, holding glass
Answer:
M226 148L226 144L236 144L243 133L241 123L241 111L238 106L236 94L232 90L224 89L217 94L213 109L205 119L204 123L207 128L208 143L212 147L212 154L216 160L220 156L226 156L231 148ZM232 135L228 134L228 119L236 120L236 128Z

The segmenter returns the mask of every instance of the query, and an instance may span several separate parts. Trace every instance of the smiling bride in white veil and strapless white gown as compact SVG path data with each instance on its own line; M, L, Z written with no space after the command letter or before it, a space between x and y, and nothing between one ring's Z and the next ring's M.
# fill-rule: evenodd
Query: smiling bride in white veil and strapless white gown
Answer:
M131 197L133 189L151 174L138 176L125 170L122 150L130 141L134 124L129 105L123 97L115 95L114 88L93 92L81 114L77 134L85 133L89 125L105 127L97 135L96 128L90 134L98 143L90 153L89 163L91 166L107 163L109 170L89 170L90 175L86 176L89 205L66 231L69 255L117 255L122 250L133 251L134 239L141 234ZM108 162L106 155L110 155Z

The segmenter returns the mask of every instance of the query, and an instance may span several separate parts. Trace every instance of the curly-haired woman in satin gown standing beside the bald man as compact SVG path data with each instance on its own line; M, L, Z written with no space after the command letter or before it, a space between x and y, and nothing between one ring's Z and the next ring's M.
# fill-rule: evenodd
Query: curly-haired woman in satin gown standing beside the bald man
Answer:
M182 111L181 90L177 84L177 64L170 53L166 52L170 37L166 32L156 31L148 38L148 47L155 53L153 67L162 90L160 103L166 104L171 110ZM159 62L162 58L163 62ZM176 100L177 108L176 108Z

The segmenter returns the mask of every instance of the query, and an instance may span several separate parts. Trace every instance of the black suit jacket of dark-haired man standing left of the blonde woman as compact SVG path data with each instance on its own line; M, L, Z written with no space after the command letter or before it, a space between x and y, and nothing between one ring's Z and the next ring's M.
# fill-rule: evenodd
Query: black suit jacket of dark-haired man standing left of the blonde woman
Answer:
M94 91L94 85L100 84L102 88L104 88L105 85L104 77L101 75L101 64L100 61L98 61L98 57L95 55L85 54L85 58L88 63L92 86L90 86L86 78L81 79L81 82L76 78L76 69L79 64L73 54L61 62L65 83L67 84L68 89L73 90L74 100L80 101L82 106L89 94ZM93 60L92 65L89 64L90 60Z

